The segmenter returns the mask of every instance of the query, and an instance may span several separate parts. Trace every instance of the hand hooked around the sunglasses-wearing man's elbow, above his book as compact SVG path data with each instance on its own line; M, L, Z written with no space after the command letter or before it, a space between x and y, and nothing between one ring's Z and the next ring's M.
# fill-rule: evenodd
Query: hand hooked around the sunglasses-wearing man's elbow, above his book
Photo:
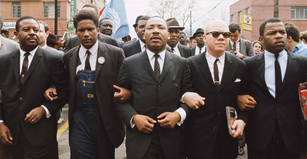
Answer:
M249 95L238 95L237 106L242 111L253 110L257 105L256 100Z

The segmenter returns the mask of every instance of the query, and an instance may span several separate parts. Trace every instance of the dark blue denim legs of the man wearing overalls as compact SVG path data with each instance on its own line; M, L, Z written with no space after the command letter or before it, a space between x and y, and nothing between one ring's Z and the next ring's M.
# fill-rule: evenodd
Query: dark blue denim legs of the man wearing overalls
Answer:
M71 159L115 159L115 147L99 110L78 110L72 117L70 127Z

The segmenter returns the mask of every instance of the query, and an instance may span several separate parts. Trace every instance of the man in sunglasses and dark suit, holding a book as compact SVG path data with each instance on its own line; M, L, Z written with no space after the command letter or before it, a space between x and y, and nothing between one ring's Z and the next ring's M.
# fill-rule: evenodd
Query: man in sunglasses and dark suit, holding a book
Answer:
M236 106L238 93L246 93L247 67L242 60L225 53L230 35L225 22L210 21L204 30L207 51L188 58L195 93L183 98L194 109L185 123L185 154L193 159L235 159L237 137L243 134L247 121L246 112ZM191 105L189 99L194 101L199 96L206 98L205 103ZM228 131L227 106L237 109L238 120L231 127L234 134Z

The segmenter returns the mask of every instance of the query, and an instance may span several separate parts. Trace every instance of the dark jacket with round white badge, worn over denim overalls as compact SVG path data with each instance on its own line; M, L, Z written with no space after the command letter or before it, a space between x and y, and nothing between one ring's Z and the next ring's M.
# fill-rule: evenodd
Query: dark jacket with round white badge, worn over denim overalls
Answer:
M81 45L73 48L64 55L64 63L69 74L70 86L68 121L72 120L72 115L75 112L76 68L80 47ZM116 83L118 70L125 56L122 49L99 42L97 58L99 57L104 57L105 63L99 64L96 62L95 85L97 101L106 131L111 142L117 148L124 141L126 132L125 125L119 119L113 106L115 93L113 85Z

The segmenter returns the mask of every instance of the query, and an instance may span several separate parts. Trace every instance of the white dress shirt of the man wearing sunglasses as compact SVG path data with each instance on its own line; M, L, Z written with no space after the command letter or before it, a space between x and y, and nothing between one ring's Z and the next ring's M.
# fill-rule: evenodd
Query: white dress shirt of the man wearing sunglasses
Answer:
M210 72L211 72L211 76L212 76L212 79L213 79L213 82L214 82L213 64L214 64L216 58L214 56L210 55L208 53L208 50L207 50L206 59L207 59L208 66L209 66L209 69L210 69ZM219 69L219 78L220 78L219 81L221 81L222 75L223 75L223 70L224 70L224 64L225 64L225 53L221 57L219 57L218 59L219 59L219 61L217 61L216 64L217 64L217 67Z

